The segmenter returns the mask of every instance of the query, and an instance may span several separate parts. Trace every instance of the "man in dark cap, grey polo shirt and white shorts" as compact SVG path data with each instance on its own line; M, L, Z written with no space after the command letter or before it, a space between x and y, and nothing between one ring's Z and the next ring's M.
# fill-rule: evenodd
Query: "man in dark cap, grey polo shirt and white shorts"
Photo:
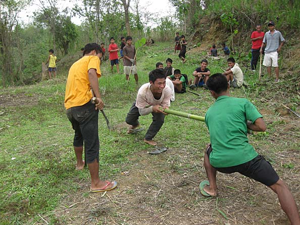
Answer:
M275 68L275 74L276 74L275 83L277 83L279 82L278 52L280 52L285 39L283 38L280 31L275 30L275 24L273 21L270 21L268 23L268 28L269 31L266 32L264 36L260 53L261 54L263 53L263 48L264 46L266 46L263 65L267 67L267 72L269 74L269 77L271 77L271 66Z

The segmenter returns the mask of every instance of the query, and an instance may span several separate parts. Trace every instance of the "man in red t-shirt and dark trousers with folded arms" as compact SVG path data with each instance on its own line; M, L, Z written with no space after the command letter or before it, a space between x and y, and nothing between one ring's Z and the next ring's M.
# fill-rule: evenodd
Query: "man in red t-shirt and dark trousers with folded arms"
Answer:
M251 34L251 41L252 41L252 47L251 47L251 53L252 53L252 59L251 59L251 70L255 72L256 65L258 58L260 56L260 48L263 43L263 38L265 33L261 31L262 25L258 24L256 25L256 31L253 31Z

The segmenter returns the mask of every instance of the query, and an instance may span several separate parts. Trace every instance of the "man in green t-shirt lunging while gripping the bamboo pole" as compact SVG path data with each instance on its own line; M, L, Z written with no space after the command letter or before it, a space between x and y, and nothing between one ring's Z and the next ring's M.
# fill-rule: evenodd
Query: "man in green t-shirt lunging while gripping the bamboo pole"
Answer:
M253 131L266 130L262 115L247 99L229 96L229 85L224 75L214 74L206 84L216 101L205 115L211 144L207 146L204 156L209 182L201 183L201 193L206 196L217 195L217 171L226 174L238 172L271 188L291 224L300 224L291 192L271 164L248 143L247 128Z

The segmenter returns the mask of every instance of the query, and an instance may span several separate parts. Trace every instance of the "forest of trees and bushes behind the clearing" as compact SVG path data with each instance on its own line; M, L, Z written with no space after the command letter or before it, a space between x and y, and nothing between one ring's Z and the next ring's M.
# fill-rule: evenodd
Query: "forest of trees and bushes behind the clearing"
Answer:
M300 2L294 0L216 1L170 0L174 15L159 17L140 9L140 0L84 0L80 4L57 8L57 0L38 1L32 23L24 24L20 12L33 4L31 0L0 1L0 85L26 85L40 81L41 63L53 48L61 59L78 52L88 42L104 42L115 37L131 35L155 41L173 41L176 31L185 34L195 46L202 43L212 24L219 24L224 33L222 41L234 50L248 51L249 32L256 24L269 20L283 36L299 30ZM35 3L36 4L36 3ZM157 6L159 8L159 6ZM72 17L83 22L75 25ZM233 44L234 43L234 44Z

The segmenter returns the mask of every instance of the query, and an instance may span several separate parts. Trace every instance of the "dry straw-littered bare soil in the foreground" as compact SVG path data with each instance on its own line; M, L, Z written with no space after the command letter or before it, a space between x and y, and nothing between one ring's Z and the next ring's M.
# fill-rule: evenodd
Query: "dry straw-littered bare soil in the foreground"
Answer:
M287 134L293 129L294 126L287 126L283 132ZM284 138L278 136L277 141ZM272 143L270 149L259 151L264 154L271 148ZM116 190L89 193L89 181L81 181L78 193L68 195L54 211L58 223L289 224L276 194L239 174L218 173L218 196L202 196L198 185L207 180L202 151L200 147L169 149L160 155L137 152L115 178L119 184ZM295 168L284 168L282 163L286 161L294 163ZM273 157L274 167L292 191L298 207L299 162L299 149L286 150ZM88 174L87 169L84 173ZM88 194L82 197L82 193Z

